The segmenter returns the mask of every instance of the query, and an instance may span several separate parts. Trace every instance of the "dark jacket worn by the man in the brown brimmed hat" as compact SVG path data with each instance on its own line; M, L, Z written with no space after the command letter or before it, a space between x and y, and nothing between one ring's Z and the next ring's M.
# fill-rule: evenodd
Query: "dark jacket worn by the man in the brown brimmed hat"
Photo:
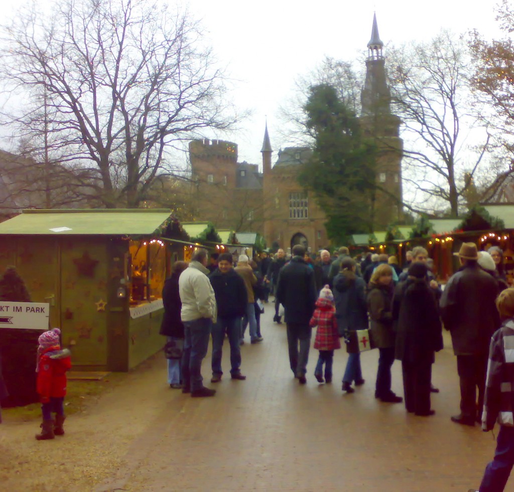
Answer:
M500 327L497 295L497 281L477 263L462 267L448 280L439 305L455 355L489 352L491 336Z

